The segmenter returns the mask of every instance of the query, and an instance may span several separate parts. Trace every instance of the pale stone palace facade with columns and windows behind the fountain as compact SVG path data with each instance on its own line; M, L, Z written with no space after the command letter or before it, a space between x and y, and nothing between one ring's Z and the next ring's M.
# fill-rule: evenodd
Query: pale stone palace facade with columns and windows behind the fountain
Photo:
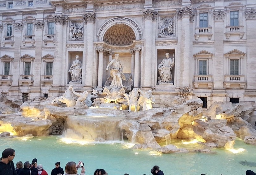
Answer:
M205 108L255 102L255 28L255 0L0 0L0 92L60 96L76 55L74 89L101 90L118 53L133 86L153 90L154 107L186 86ZM165 53L173 83L159 83Z

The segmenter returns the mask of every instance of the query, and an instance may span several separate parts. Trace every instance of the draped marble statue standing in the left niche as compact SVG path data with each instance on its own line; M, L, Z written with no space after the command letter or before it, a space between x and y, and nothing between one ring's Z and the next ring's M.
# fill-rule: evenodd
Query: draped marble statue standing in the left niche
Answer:
M69 83L82 83L82 63L79 60L78 55L75 56L75 60L73 61L73 64L70 66L68 72L71 74L71 81Z

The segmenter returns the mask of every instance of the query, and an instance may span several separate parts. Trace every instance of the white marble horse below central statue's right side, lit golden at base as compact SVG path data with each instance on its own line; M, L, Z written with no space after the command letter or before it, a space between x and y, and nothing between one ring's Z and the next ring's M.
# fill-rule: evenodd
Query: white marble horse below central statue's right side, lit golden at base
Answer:
M139 103L138 103L138 97L139 97L139 88L133 88L131 92L129 92L129 96L127 94L124 94L128 101L128 106L129 106L129 112L134 111L137 112L139 111Z

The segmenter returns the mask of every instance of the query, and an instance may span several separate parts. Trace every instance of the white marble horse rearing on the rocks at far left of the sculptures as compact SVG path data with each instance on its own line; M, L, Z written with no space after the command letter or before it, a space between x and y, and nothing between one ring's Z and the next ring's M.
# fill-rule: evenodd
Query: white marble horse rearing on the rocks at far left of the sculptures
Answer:
M70 85L63 96L57 97L52 100L51 104L57 103L61 101L62 103L66 103L67 107L73 107L76 104L76 101L72 97L73 85Z

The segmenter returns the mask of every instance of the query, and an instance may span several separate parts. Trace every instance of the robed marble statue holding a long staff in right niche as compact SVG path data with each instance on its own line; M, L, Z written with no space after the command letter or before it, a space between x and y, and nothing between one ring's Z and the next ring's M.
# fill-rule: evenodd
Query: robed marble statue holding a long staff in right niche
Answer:
M174 53L173 53L174 55ZM170 54L165 54L166 58L163 59L163 61L158 65L158 71L160 74L160 77L158 77L157 84L160 83L173 83L172 78L172 67L174 66L174 58L169 58Z

